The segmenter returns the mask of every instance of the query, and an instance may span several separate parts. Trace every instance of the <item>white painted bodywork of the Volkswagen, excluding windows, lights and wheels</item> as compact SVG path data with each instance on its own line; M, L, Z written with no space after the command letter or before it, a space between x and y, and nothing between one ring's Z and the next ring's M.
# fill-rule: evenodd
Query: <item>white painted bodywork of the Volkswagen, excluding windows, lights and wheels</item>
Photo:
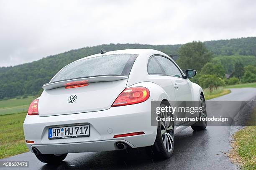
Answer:
M100 82L95 78L85 78L82 80L87 80L89 86L73 89L65 89L64 86L54 88L54 83L50 85L50 89L47 89L49 86L44 86L45 90L38 98L39 115L27 115L24 121L25 139L34 141L34 143L26 143L31 152L33 147L36 147L41 154L118 150L115 146L116 142L124 142L132 148L151 146L155 142L157 133L157 126L151 126L151 101L199 101L200 94L203 95L202 88L189 79L148 74L148 60L151 56L164 56L175 63L172 58L160 51L148 49L110 51L80 60L126 53L138 55L129 76L106 76L106 80L100 78ZM181 73L185 76L182 71ZM146 87L150 91L149 99L138 104L111 107L125 88L136 86ZM179 88L176 89L174 86ZM67 99L73 94L77 96L77 100L70 104ZM89 137L55 140L48 138L49 127L79 124L90 124ZM174 134L188 126L175 125ZM113 138L116 134L132 132L145 134Z

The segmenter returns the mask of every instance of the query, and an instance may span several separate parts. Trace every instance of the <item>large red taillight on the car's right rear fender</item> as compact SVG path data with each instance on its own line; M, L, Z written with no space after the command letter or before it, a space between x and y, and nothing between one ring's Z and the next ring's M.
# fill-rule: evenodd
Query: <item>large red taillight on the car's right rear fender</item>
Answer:
M126 88L118 98L115 99L111 107L125 106L129 104L137 104L146 101L150 92L146 87L130 87Z

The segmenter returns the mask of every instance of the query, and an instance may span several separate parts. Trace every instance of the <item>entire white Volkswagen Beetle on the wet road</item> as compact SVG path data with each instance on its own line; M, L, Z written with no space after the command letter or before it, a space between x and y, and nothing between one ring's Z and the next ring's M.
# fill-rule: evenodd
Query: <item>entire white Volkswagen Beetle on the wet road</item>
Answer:
M149 147L168 158L174 134L207 122L151 125L151 101L200 101L202 88L165 53L149 49L101 52L61 69L35 99L24 122L26 144L38 160L57 163L67 153ZM206 116L206 109L200 112ZM187 124L186 124L187 123ZM194 122L195 123L195 122Z

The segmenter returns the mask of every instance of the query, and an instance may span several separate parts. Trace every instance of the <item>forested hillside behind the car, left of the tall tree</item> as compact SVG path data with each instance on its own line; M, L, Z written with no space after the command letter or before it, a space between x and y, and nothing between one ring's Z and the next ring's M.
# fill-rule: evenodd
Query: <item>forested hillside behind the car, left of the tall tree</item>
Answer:
M0 99L24 94L37 94L42 85L68 63L85 56L100 53L100 50L114 51L128 48L149 48L175 54L181 45L152 46L141 44L109 44L71 50L54 56L48 56L32 63L0 68Z

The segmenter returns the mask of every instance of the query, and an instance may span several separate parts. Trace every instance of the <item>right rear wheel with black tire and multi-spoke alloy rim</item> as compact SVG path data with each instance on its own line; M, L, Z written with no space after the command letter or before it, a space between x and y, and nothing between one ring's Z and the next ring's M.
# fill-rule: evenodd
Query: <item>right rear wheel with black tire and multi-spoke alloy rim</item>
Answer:
M165 101L160 107L169 105ZM162 112L161 117L170 116L172 113ZM174 122L173 121L158 121L157 134L154 145L147 148L147 152L154 158L167 159L172 156L174 150Z

